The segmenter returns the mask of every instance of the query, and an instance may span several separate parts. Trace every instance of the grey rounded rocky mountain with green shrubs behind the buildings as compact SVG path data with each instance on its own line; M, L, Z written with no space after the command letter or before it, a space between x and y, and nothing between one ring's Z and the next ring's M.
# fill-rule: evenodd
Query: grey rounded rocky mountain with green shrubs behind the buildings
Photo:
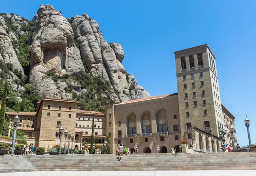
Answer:
M137 81L123 59L122 46L108 43L87 14L66 19L50 5L41 5L32 21L0 14L0 72L10 67L4 76L17 94L27 76L35 95L86 100L81 109L127 101ZM143 98L150 97L138 88Z

